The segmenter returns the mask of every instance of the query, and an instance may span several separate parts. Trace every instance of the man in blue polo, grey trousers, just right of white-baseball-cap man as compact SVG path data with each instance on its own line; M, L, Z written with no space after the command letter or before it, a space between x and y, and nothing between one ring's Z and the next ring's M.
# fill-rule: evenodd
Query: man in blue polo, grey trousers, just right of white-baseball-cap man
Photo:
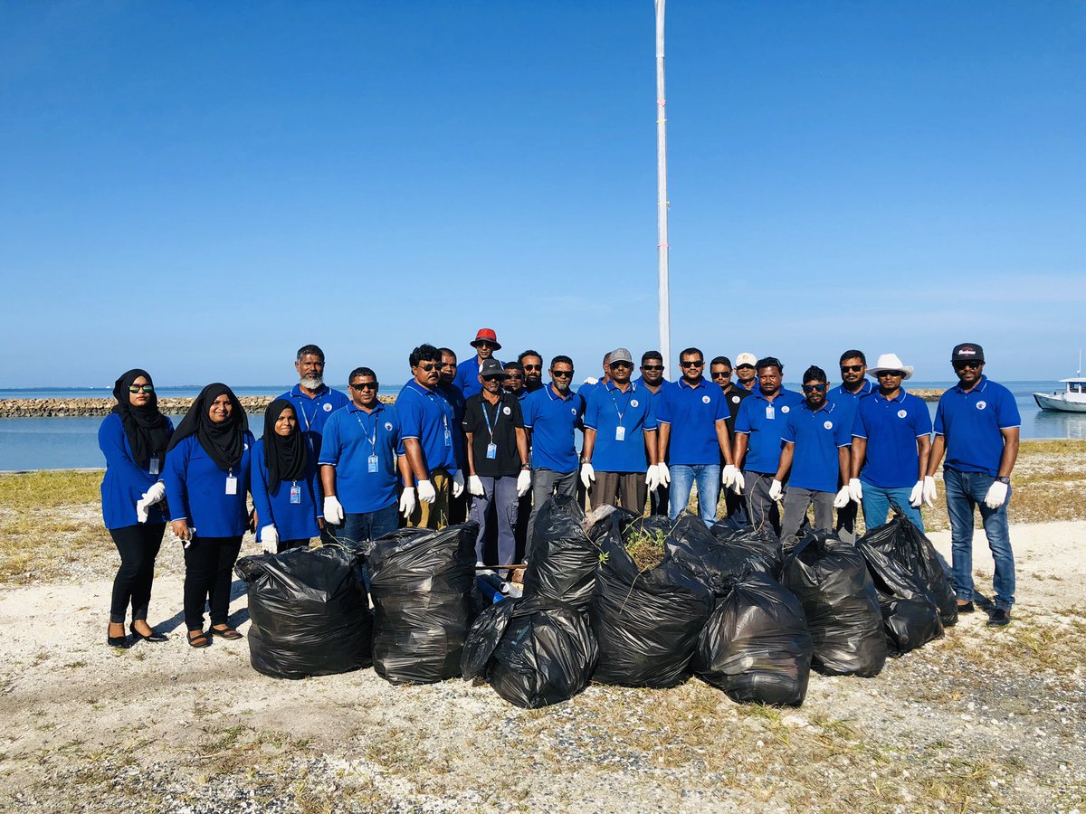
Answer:
M788 414L803 404L804 397L781 386L784 366L775 356L758 359L755 370L758 386L743 399L735 416L733 457L742 471L732 488L747 497L749 519L755 527L768 522L773 532L780 534L781 514L769 489L781 461L784 422Z

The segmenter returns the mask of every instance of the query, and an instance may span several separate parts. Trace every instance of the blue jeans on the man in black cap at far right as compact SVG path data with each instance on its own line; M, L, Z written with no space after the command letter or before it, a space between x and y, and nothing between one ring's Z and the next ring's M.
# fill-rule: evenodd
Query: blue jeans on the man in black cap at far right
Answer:
M984 505L984 497L995 478L983 472L959 472L950 467L943 468L946 483L947 514L950 516L950 555L954 559L951 580L955 593L963 602L973 599L973 509L980 507L984 535L988 538L996 573L992 585L996 589L996 607L1010 610L1014 605L1014 552L1007 527L1007 507L1011 501L1010 488L1007 499L998 509Z

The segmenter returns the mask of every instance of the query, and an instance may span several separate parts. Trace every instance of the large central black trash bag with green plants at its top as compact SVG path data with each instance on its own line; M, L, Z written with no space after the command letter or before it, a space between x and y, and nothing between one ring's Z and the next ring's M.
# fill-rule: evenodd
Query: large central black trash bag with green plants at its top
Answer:
M589 606L599 643L593 677L628 687L673 687L690 677L697 635L712 611L712 589L667 551L659 565L639 573L622 545L619 520L598 539L602 556ZM628 530L660 520L637 521Z

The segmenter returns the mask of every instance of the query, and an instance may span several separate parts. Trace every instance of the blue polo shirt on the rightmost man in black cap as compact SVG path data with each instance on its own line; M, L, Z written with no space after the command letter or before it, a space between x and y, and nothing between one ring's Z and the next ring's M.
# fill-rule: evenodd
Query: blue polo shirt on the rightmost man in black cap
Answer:
M959 472L998 475L1001 430L1021 425L1013 394L986 376L968 393L960 384L948 390L935 410L935 434L946 437L946 466Z

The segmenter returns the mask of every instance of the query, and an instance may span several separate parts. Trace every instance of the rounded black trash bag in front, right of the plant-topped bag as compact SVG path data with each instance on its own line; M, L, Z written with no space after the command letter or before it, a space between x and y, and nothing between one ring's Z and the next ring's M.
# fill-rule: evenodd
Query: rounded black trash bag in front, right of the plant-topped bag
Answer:
M694 672L740 703L799 707L812 652L799 600L773 577L748 572L702 629Z

